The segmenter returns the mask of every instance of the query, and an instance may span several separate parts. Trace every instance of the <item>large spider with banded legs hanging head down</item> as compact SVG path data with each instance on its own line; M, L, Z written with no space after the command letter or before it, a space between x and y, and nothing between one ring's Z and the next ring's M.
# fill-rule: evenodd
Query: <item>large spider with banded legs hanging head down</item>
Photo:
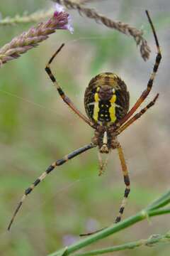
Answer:
M154 29L154 25L149 16L148 11L146 11L147 18L149 24L152 28L152 33L154 35L154 41L157 46L157 56L154 63L154 68L152 70L152 74L150 75L149 81L147 82L147 88L142 92L142 95L138 98L135 105L129 110L129 101L130 95L125 85L125 82L115 75L115 73L101 73L96 75L96 77L92 78L89 82L88 87L86 87L85 95L84 95L84 106L86 110L86 114L89 118L87 118L84 114L81 114L77 107L74 106L73 102L64 94L64 91L60 87L57 82L55 76L52 74L50 69L50 64L52 60L54 60L55 56L62 50L62 46L56 51L52 58L50 58L49 62L45 67L45 71L47 75L49 75L50 80L52 80L53 85L55 85L57 91L59 92L62 100L81 118L89 124L94 129L94 137L91 139L91 143L86 146L82 146L79 149L72 151L72 153L67 154L62 159L59 159L52 163L46 171L44 171L39 178L37 178L33 184L26 189L21 201L18 203L18 206L13 213L13 217L11 218L11 222L8 225L8 230L10 230L11 225L13 223L18 210L21 208L23 201L26 199L28 194L38 186L38 184L50 174L55 167L60 166L70 159L73 159L75 156L98 146L98 160L100 171L99 175L103 173L103 169L106 167L106 161L103 163L101 160L101 154L109 154L112 149L118 150L118 156L120 158L120 165L123 172L124 182L125 182L125 193L123 197L123 201L119 208L119 213L115 218L115 223L118 223L123 215L123 211L125 209L125 204L130 193L130 178L128 175L128 168L125 163L125 157L123 155L123 149L118 142L118 135L121 134L125 129L127 129L132 123L134 123L137 119L139 119L142 114L144 114L150 107L154 105L159 94L157 94L154 99L149 102L149 104L144 107L140 112L136 112L136 110L140 107L142 102L145 101L149 92L152 90L152 85L154 82L155 75L157 73L157 69L159 67L159 63L161 61L162 55L159 47L159 42L157 39L157 34ZM133 115L134 114L134 115ZM98 231L98 230L97 230ZM97 232L96 231L96 232ZM95 232L94 232L95 233ZM91 234L91 233L89 233ZM89 235L86 234L86 235Z

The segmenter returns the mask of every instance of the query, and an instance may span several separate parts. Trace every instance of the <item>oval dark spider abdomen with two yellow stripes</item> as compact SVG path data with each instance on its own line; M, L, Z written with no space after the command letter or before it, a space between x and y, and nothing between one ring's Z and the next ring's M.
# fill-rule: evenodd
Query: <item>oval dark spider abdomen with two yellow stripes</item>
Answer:
M89 119L98 124L113 124L129 110L129 92L125 82L114 73L101 73L92 78L84 95Z

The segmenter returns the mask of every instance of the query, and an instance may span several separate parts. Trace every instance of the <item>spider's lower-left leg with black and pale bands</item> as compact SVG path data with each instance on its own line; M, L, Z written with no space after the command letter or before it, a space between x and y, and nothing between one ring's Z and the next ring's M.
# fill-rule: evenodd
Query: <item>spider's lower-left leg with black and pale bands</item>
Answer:
M64 164L64 163L67 162L69 159L72 159L72 158L74 158L75 156L78 156L79 154L83 153L84 151L86 151L86 150L88 150L88 149L92 149L92 148L94 148L94 147L95 147L95 146L94 146L94 144L92 144L92 143L89 144L89 145L83 146L83 147L81 147L81 148L79 148L79 149L74 150L72 153L70 153L70 154L64 156L62 159L59 159L59 160L55 161L53 164L51 164L51 165L47 168L47 170L46 170L45 172L43 172L43 173L41 174L41 176L40 176L39 178L37 178L29 188L26 189L25 193L23 194L23 197L21 198L21 201L18 203L18 206L17 206L15 212L13 213L13 217L11 218L11 221L10 221L10 223L9 223L9 225L8 225L8 230L10 230L11 225L12 225L12 223L13 223L13 220L14 220L14 218L16 217L16 214L18 213L18 210L21 208L21 206L22 206L22 204L23 204L23 201L26 199L26 197L28 196L28 194L29 194L31 191L33 191L33 189L35 188L35 186L37 186L37 185L47 176L47 174L50 174L50 172L51 172L53 169L55 169L55 167Z

